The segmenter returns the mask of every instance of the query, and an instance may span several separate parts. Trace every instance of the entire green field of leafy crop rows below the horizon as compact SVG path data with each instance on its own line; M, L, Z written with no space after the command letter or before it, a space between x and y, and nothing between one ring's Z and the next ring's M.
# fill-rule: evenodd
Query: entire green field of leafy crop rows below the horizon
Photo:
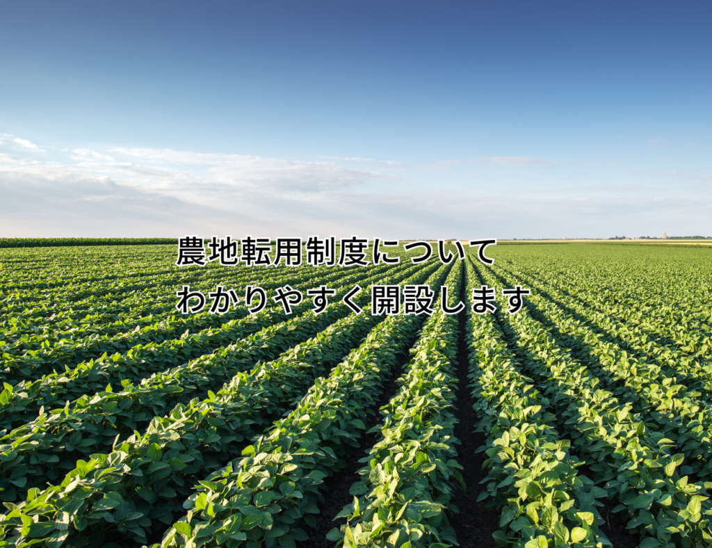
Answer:
M0 249L0 547L712 546L712 248L470 252L179 268L175 245ZM228 312L177 310L183 285L218 284ZM388 284L429 285L434 313L372 315ZM290 315L285 285L305 294ZM319 285L336 294L316 315ZM442 312L442 285L465 310ZM481 285L496 312L471 310Z

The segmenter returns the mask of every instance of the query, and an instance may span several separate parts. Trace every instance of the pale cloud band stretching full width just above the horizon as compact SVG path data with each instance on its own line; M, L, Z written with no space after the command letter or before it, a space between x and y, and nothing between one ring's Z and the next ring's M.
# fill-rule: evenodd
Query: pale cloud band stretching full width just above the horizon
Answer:
M550 182L529 184L526 172L502 176L496 166L555 162L493 157L501 162L486 159L495 167L463 175L461 186L445 189L436 184L442 172L422 172L416 176L432 183L399 179L409 183L404 191L389 184L394 178L377 164L367 171L335 161L146 148L64 154L38 160L0 153L1 236L527 238L658 233L659 223L673 233L691 222L708 227L701 233L712 232L708 185L703 191L700 179L698 186L685 182L688 191L681 193L680 185L659 184L659 172L641 173L634 184L627 170L604 185L548 175ZM386 184L365 184L375 180Z

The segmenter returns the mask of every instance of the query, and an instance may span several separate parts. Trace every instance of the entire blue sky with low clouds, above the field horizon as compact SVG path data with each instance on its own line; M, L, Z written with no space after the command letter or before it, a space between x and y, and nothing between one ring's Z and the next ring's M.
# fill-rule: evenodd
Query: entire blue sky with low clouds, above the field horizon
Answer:
M703 1L0 6L0 236L712 235Z

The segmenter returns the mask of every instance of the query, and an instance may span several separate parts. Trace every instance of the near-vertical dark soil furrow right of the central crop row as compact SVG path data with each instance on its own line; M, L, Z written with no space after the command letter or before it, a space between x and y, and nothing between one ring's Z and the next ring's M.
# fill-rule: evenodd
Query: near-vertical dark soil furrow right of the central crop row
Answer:
M460 300L466 299L465 283L461 285ZM485 444L485 435L475 432L479 421L473 409L474 399L472 391L468 389L468 359L466 334L466 311L460 312L460 337L457 349L457 378L459 379L456 396L458 423L455 425L455 437L461 441L457 448L457 461L464 466L461 470L466 491L459 488L451 500L460 511L449 516L450 525L454 527L457 542L461 548L489 548L494 546L492 533L499 529L500 513L496 508L486 507L486 501L477 502L478 495L484 490L480 484L487 477L487 470L482 469L486 454L475 453L478 447Z

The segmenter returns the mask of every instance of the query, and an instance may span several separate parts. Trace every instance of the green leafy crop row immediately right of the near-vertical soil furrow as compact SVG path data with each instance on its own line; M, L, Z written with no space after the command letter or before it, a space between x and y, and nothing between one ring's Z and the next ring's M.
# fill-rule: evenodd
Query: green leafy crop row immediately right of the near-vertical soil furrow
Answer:
M470 285L476 274L468 263ZM597 497L605 490L577 473L570 441L559 438L550 402L520 373L491 315L468 312L470 379L478 430L487 436L487 490L479 500L502 508L498 546L610 546L598 528Z

